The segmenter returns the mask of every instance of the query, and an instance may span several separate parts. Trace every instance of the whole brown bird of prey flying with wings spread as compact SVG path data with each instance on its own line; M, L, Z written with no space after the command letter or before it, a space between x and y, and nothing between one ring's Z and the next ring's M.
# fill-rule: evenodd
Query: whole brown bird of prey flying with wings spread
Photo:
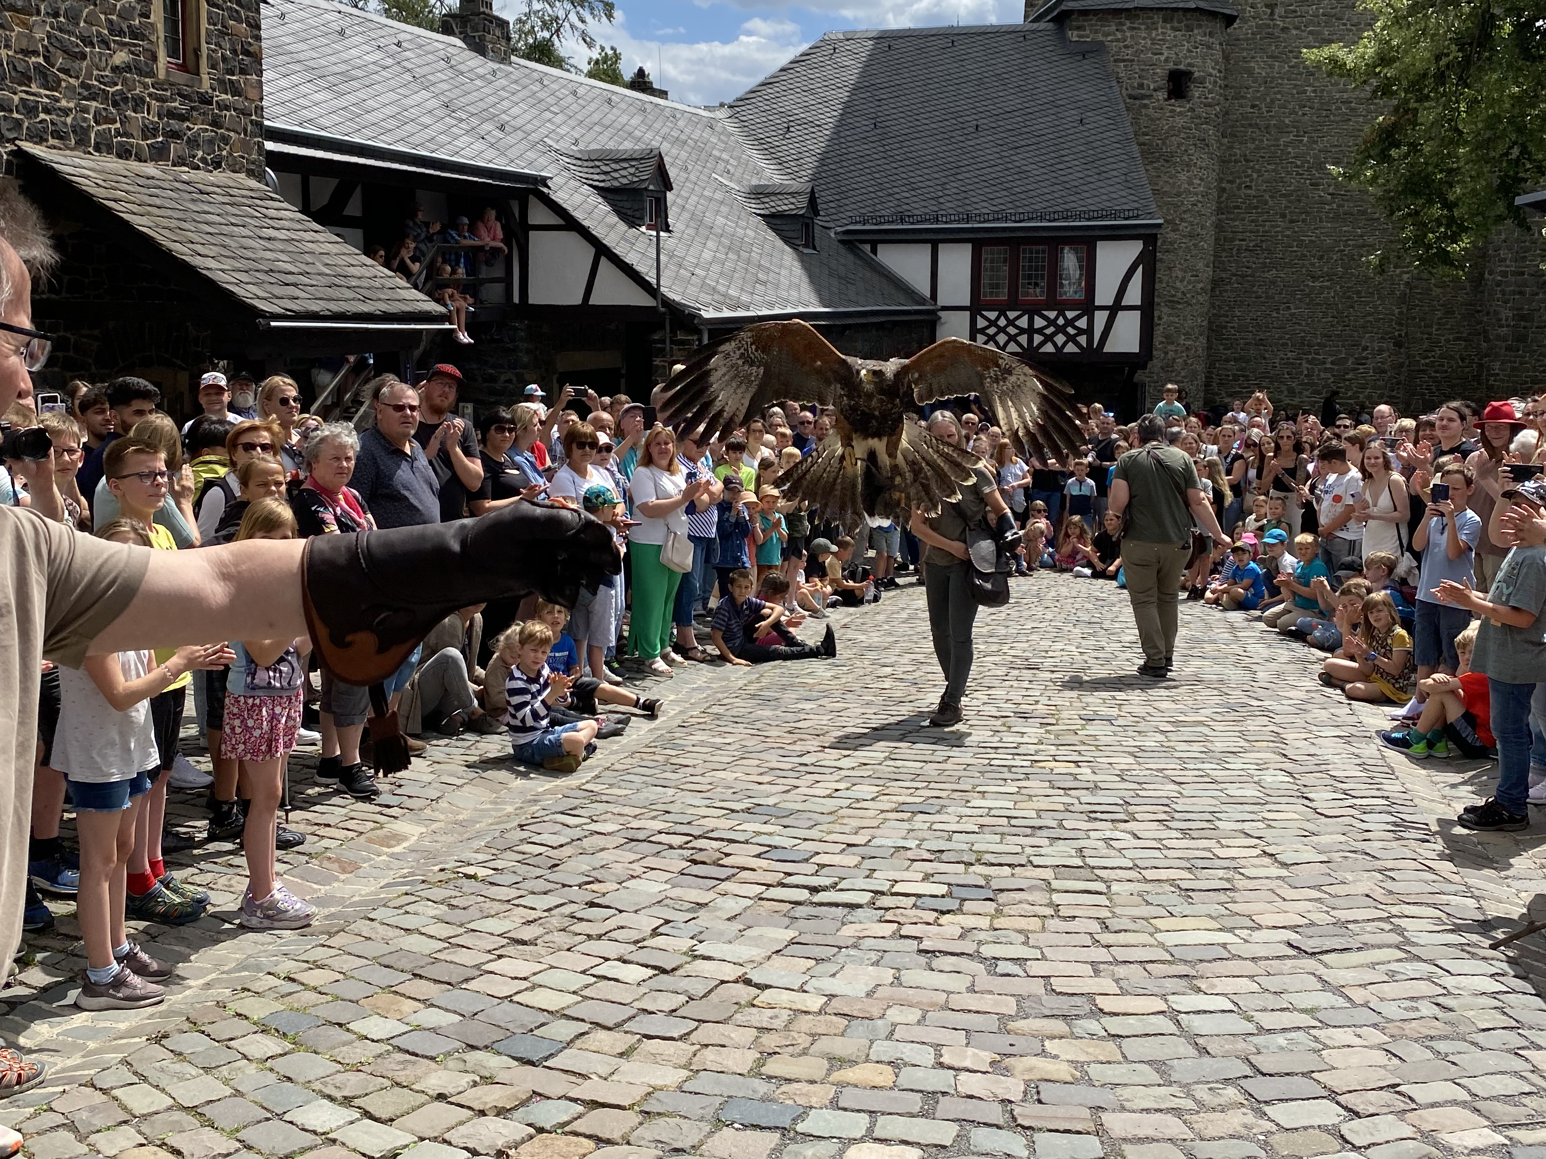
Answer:
M784 399L836 408L832 434L778 481L785 499L809 501L855 529L866 515L932 515L960 496L982 459L915 422L942 399L979 396L1005 437L1042 459L1078 456L1084 436L1057 379L1000 351L945 338L911 359L838 354L804 321L762 321L694 354L656 396L660 420L707 440L727 437Z

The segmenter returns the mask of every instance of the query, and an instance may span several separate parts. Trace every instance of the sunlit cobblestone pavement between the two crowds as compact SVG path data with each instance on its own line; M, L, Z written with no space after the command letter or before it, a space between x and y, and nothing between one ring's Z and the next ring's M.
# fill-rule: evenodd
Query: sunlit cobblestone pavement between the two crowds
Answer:
M1314 657L1040 575L979 618L966 725L921 593L835 663L693 666L569 779L431 748L376 805L298 765L298 933L145 932L173 1000L80 1015L60 919L0 1034L36 1159L1546 1159L1538 838L1489 766L1387 759ZM182 858L187 862L187 858Z

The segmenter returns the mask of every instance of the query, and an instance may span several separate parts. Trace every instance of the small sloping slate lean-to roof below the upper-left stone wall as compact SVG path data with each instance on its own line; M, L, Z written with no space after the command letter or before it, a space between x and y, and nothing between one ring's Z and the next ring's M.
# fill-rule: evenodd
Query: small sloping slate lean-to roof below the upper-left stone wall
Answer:
M424 294L250 178L17 148L258 317L445 321Z

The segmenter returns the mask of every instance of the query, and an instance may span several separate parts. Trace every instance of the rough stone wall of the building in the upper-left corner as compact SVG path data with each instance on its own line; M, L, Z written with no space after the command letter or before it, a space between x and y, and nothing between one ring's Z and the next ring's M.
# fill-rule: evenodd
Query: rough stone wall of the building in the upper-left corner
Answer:
M179 74L159 60L161 0L0 0L0 142L261 179L258 3L189 0L203 46Z

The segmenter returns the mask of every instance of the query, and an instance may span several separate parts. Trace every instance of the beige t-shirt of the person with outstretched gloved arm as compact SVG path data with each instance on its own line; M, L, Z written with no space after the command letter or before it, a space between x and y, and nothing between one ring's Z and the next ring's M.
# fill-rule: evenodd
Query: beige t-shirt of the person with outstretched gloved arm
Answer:
M87 644L135 598L148 559L145 547L0 508L0 961L22 941L42 661L80 668Z

